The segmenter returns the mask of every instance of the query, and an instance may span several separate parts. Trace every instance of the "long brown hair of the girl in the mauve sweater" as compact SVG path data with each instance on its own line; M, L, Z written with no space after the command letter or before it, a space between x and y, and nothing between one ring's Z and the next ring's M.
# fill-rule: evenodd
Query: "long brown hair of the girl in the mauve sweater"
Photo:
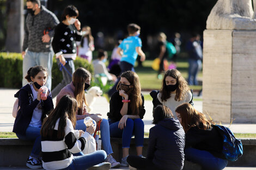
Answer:
M88 70L83 67L77 68L77 70L73 73L72 81L75 86L74 95L78 103L78 108L82 109L83 103L87 105L86 95L84 93L84 83L86 83L86 79L91 77L91 74ZM78 115L81 115L82 111L78 111Z

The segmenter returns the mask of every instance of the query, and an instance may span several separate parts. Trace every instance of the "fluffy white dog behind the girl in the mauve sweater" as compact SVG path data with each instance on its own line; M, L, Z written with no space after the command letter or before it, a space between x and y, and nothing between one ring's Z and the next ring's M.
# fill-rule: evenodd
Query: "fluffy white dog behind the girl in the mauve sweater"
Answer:
M102 90L100 87L93 86L86 92L86 101L87 101L87 111L91 112L93 110L92 105L95 102L96 98L102 95Z

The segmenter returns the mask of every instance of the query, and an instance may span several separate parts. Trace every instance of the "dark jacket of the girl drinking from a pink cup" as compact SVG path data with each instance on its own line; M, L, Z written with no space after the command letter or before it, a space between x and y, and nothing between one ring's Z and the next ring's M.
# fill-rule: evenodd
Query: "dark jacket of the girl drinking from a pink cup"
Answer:
M21 108L17 112L17 116L15 118L13 126L13 132L20 135L25 135L28 125L31 122L33 111L36 108L36 105L38 105L39 100L34 100L30 84L23 86L14 95L14 97L19 98L19 106ZM49 95L47 96L47 99L41 100L41 105L43 110L41 121L44 121L46 114L49 114L50 111L53 109L52 93L50 91Z

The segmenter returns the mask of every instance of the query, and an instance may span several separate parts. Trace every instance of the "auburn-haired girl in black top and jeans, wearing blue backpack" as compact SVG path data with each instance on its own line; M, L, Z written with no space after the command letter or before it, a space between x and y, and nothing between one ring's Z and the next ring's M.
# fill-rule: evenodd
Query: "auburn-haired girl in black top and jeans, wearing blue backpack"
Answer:
M208 121L189 103L179 105L175 112L186 133L185 159L198 163L203 169L224 169L228 161L222 154L223 138L212 126L214 122Z

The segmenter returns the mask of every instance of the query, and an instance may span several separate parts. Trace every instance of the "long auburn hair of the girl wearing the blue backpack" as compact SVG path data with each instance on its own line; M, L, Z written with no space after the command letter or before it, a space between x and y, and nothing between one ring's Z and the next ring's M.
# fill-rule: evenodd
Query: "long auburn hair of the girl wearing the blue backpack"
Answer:
M185 133L191 127L198 127L199 129L206 130L211 128L211 124L215 124L213 121L209 121L204 114L194 109L189 103L179 105L175 112L180 114L181 125Z

